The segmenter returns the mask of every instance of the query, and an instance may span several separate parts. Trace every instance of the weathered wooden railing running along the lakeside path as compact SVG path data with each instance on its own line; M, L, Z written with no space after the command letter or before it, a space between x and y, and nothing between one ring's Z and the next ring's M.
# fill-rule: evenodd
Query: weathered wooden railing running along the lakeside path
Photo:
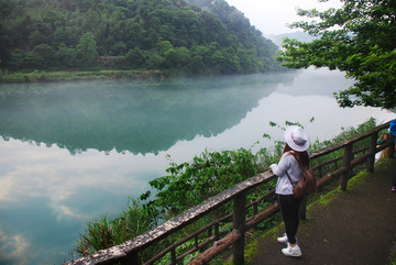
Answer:
M340 142L331 147L314 152L311 154L311 168L316 172L318 188L340 176L339 187L345 190L348 180L352 176L353 168L366 163L366 169L373 172L375 154L384 148L388 148L388 156L393 158L395 151L393 136L391 136L387 144L380 147L376 146L378 132L388 126L389 122L362 135ZM359 150L354 150L354 146L358 144L362 145L364 142L369 143ZM327 158L327 156L334 156L334 154L337 154L336 152L341 155L336 158ZM314 164L315 166L312 166ZM329 172L327 167L331 167L330 173L327 173ZM123 244L70 261L67 264L141 264L139 253L148 246L155 245L160 241L174 235L187 225L212 213L216 209L230 201L232 201L233 205L233 211L231 213L212 221L185 239L173 243L165 250L155 254L144 264L154 264L165 255L168 255L168 253L170 253L169 264L176 264L187 255L202 250L206 251L196 256L189 264L206 264L230 246L232 246L234 264L244 264L245 231L256 228L260 222L273 217L278 211L278 205L276 200L273 199L274 190L271 190L260 199L251 201L250 203L246 203L246 195L253 189L268 184L268 181L274 178L276 178L276 176L270 172L258 174ZM258 211L260 203L263 203L264 201L270 205L262 211ZM306 203L307 199L305 199L304 202ZM302 218L305 218L305 203L301 208ZM248 214L248 212L250 213ZM230 222L232 222L232 231L220 232L221 224ZM199 236L205 240L199 240ZM193 247L185 251L183 254L177 255L176 249L188 241L193 241ZM211 244L211 246L209 246L209 244Z

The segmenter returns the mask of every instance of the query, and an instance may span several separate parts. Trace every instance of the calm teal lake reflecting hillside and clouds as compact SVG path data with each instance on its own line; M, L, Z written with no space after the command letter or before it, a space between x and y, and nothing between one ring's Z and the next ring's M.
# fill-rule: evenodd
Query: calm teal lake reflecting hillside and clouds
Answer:
M0 264L67 262L89 221L122 212L170 161L272 146L263 134L282 140L283 132L271 121L298 121L311 141L323 141L371 117L395 118L339 108L332 93L351 85L342 73L311 68L0 85Z

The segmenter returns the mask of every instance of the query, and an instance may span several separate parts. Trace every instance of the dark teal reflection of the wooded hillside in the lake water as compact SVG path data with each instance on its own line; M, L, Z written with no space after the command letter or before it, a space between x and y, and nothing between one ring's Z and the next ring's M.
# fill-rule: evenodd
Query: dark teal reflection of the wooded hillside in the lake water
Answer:
M280 79L279 79L280 78ZM0 134L69 152L157 153L238 124L292 74L2 85Z

